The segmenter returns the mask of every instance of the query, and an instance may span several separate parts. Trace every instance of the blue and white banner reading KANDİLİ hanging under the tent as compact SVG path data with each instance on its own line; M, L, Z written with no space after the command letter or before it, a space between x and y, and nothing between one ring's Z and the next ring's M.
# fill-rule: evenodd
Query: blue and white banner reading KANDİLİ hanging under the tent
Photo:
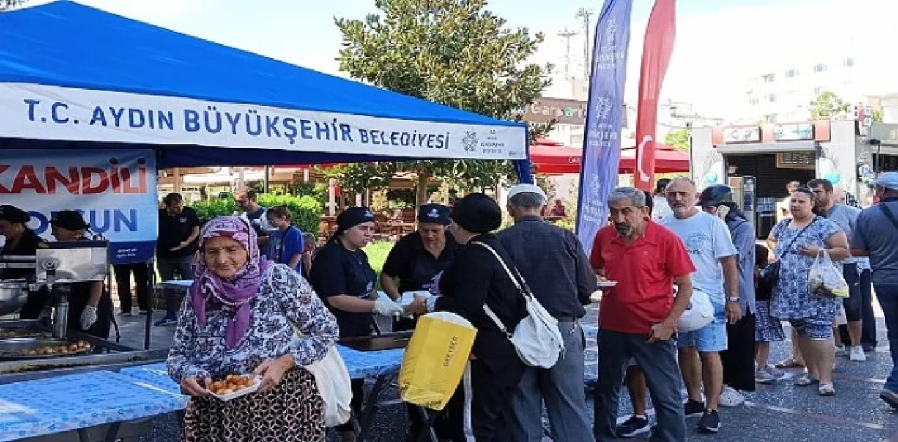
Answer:
M0 202L31 214L28 226L50 239L49 220L81 212L110 240L110 261L147 261L155 252L159 203L153 151L4 150Z

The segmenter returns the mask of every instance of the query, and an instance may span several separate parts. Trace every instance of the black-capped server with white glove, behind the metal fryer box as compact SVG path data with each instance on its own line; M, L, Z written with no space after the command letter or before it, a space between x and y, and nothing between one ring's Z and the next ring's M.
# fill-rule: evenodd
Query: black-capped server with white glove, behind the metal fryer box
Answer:
M61 211L50 219L50 234L59 242L84 241L91 226L81 213ZM112 298L102 281L73 282L68 292L68 328L109 339Z

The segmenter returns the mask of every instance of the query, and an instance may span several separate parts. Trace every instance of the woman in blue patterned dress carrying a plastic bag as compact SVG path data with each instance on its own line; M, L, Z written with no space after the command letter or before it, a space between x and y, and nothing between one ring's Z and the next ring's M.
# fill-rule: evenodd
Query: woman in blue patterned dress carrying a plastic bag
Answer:
M798 377L796 385L819 383L819 393L832 396L832 321L841 299L812 293L808 277L821 249L835 262L850 256L848 238L834 222L814 215L814 193L807 187L794 192L788 204L793 218L779 221L767 238L780 262L770 315L788 320L797 332L807 372Z

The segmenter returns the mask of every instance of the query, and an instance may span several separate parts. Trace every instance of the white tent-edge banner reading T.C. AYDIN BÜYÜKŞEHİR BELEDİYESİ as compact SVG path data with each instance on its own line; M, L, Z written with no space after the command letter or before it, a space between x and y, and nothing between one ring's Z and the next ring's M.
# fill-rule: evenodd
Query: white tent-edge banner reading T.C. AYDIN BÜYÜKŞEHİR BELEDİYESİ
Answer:
M524 126L464 125L0 83L0 137L523 160Z

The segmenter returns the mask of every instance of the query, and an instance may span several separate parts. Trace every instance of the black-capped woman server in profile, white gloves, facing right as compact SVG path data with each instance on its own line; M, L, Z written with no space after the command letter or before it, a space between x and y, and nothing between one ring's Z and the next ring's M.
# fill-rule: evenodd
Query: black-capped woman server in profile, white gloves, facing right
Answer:
M374 329L372 313L401 314L401 306L374 290L377 274L362 247L374 235L374 213L350 207L337 216L337 231L313 258L310 283L337 317L339 337L367 336ZM364 379L352 381L352 409L361 410ZM355 440L351 422L338 428L343 440Z

